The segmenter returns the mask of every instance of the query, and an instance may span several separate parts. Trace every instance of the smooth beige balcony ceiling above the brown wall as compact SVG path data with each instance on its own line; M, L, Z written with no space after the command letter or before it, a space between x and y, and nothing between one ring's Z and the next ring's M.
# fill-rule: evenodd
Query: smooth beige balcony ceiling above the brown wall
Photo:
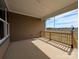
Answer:
M8 10L23 15L42 18L77 0L5 0Z

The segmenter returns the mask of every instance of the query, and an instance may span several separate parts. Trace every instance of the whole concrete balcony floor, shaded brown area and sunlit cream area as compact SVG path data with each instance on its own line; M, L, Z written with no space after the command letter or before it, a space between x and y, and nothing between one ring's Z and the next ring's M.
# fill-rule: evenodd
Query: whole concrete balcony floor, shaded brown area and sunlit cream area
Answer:
M77 49L71 55L41 40L23 40L11 43L4 59L77 59Z

